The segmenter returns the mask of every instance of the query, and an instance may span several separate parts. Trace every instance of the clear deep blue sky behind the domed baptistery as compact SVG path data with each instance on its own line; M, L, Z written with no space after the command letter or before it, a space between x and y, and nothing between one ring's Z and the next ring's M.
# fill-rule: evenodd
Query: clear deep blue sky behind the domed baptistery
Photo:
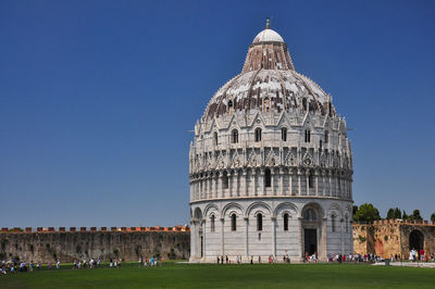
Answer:
M435 211L434 1L1 1L0 226L188 222L188 147L270 16L348 126L353 197Z

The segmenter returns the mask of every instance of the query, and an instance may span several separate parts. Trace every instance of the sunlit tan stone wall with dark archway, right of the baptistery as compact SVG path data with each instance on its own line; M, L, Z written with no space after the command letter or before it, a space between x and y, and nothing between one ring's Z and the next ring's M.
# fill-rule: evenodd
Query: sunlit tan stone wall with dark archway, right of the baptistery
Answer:
M434 254L435 223L431 224L427 221L411 223L382 219L373 224L353 224L353 251L362 254L375 253L383 257L397 253L407 259L410 251L410 235L413 231L423 236L422 244L425 252Z

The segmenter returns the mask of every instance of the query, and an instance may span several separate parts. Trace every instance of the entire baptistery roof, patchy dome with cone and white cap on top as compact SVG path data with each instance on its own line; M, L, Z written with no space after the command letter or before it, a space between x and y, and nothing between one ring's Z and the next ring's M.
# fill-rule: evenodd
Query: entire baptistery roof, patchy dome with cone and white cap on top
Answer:
M217 90L202 120L256 111L335 115L331 96L295 71L287 45L270 28L269 20L250 45L241 74Z

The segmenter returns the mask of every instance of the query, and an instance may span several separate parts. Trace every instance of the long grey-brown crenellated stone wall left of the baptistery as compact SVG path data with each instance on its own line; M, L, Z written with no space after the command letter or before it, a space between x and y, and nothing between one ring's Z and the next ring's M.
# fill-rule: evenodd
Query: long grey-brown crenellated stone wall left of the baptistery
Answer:
M73 262L101 257L137 261L139 256L188 259L187 231L15 231L0 233L0 260Z

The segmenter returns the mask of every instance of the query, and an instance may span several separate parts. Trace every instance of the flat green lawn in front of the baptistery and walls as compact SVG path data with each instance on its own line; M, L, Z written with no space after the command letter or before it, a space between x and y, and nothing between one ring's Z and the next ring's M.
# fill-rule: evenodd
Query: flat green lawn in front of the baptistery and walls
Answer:
M0 288L435 288L435 269L339 265L214 265L164 263L160 267L40 271L0 276Z

